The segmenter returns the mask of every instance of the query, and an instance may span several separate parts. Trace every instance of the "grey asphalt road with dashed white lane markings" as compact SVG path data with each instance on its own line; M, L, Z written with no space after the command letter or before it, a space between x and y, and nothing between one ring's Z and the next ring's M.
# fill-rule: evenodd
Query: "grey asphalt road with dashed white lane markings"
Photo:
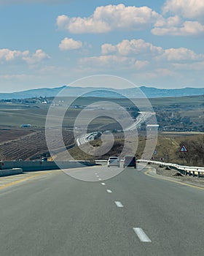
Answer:
M58 171L0 189L0 255L204 255L203 189L133 168L99 181L116 169L72 170L97 182Z

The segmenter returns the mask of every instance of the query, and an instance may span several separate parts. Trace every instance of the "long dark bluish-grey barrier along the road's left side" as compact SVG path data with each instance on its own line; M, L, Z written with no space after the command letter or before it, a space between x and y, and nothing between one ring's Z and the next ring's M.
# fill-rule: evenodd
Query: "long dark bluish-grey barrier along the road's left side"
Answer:
M57 163L60 167L57 165ZM90 161L64 161L57 163L54 161L1 161L0 170L8 170L12 168L21 168L23 171L58 170L60 168L66 169L95 165L95 162Z

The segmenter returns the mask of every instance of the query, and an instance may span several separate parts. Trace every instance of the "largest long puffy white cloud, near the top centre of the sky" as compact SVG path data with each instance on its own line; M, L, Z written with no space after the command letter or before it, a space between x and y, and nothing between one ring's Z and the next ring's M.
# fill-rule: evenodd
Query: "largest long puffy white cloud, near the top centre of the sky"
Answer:
M59 29L71 33L106 33L117 29L141 30L160 18L149 7L125 7L124 4L97 7L87 18L60 15L57 18Z

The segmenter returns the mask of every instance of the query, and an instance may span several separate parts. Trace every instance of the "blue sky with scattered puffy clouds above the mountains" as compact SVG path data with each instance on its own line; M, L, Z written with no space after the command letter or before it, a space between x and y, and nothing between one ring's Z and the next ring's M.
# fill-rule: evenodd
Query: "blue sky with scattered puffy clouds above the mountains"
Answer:
M203 0L0 0L0 92L90 75L203 88L203 39Z

